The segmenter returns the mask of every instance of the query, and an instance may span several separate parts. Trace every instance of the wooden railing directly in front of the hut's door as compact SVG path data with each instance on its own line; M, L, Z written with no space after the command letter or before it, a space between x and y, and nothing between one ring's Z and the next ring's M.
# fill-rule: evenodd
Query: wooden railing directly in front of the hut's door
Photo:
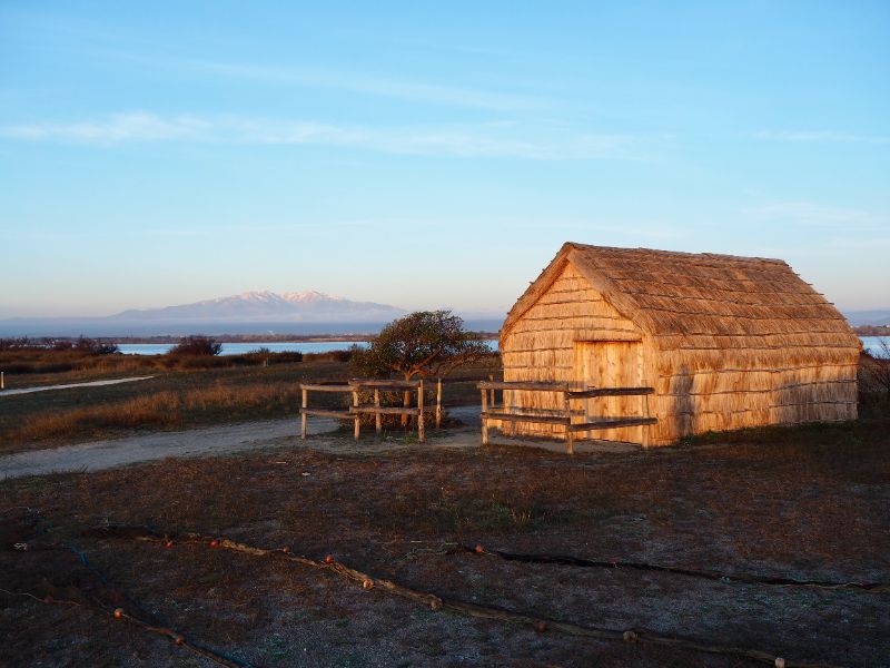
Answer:
M530 424L561 424L565 426L565 448L568 454L574 453L574 435L577 432L617 429L620 426L640 426L656 424L656 418L649 415L649 395L654 394L654 387L589 387L587 390L573 390L570 383L523 383L523 382L494 382L486 381L476 385L482 392L482 444L488 444L488 421ZM494 391L523 391L523 392L553 392L562 394L562 402L556 409L516 409L506 406L502 401L500 406L494 404ZM584 411L573 411L572 402L601 396L635 396L645 397L645 415L622 418L599 418L591 422L574 422L573 415L584 415ZM491 401L491 404L490 404ZM643 446L649 445L649 431L643 432Z

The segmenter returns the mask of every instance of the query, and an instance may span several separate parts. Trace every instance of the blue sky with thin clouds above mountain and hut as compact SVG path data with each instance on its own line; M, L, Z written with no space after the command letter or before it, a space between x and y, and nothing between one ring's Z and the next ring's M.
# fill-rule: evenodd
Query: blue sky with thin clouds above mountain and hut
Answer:
M890 305L888 2L0 4L0 316L505 310L565 240Z

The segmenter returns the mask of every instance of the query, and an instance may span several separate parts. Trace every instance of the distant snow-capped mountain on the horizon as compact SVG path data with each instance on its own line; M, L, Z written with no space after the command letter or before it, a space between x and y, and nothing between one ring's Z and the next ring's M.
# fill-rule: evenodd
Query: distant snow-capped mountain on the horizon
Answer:
M280 322L382 322L405 312L388 304L353 302L317 291L276 294L269 291L205 299L162 308L129 310L110 316L126 321L280 321Z

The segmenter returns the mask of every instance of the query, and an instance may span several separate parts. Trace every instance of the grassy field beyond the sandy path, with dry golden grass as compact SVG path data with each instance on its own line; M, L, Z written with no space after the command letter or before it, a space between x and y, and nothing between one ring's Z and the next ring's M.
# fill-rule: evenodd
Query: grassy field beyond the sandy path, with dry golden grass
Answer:
M207 361L210 364L226 362L226 358ZM145 431L294 416L300 405L298 384L301 381L354 375L346 362L313 360L308 355L304 362L269 366L182 370L168 369L161 358L145 367L138 360L137 363L131 375L155 374L155 377L120 385L1 396L0 454ZM29 377L43 384L60 384L96 380L97 375L105 377L106 372L92 367L90 372ZM462 377L486 379L488 373L498 373L497 358L456 373ZM120 370L111 375L120 377ZM313 405L342 407L343 395L314 394L312 401ZM446 386L444 402L447 405L474 401L478 402L478 391L473 382Z

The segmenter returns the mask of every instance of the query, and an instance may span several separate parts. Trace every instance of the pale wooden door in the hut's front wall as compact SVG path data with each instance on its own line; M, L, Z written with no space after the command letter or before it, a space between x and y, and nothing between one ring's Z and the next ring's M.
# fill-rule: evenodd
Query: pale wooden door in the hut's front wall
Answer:
M575 380L578 389L640 387L643 385L643 348L637 341L582 341L575 344ZM643 396L600 396L584 402L587 422L602 418L631 418L645 413ZM587 432L586 438L643 443L643 426Z

